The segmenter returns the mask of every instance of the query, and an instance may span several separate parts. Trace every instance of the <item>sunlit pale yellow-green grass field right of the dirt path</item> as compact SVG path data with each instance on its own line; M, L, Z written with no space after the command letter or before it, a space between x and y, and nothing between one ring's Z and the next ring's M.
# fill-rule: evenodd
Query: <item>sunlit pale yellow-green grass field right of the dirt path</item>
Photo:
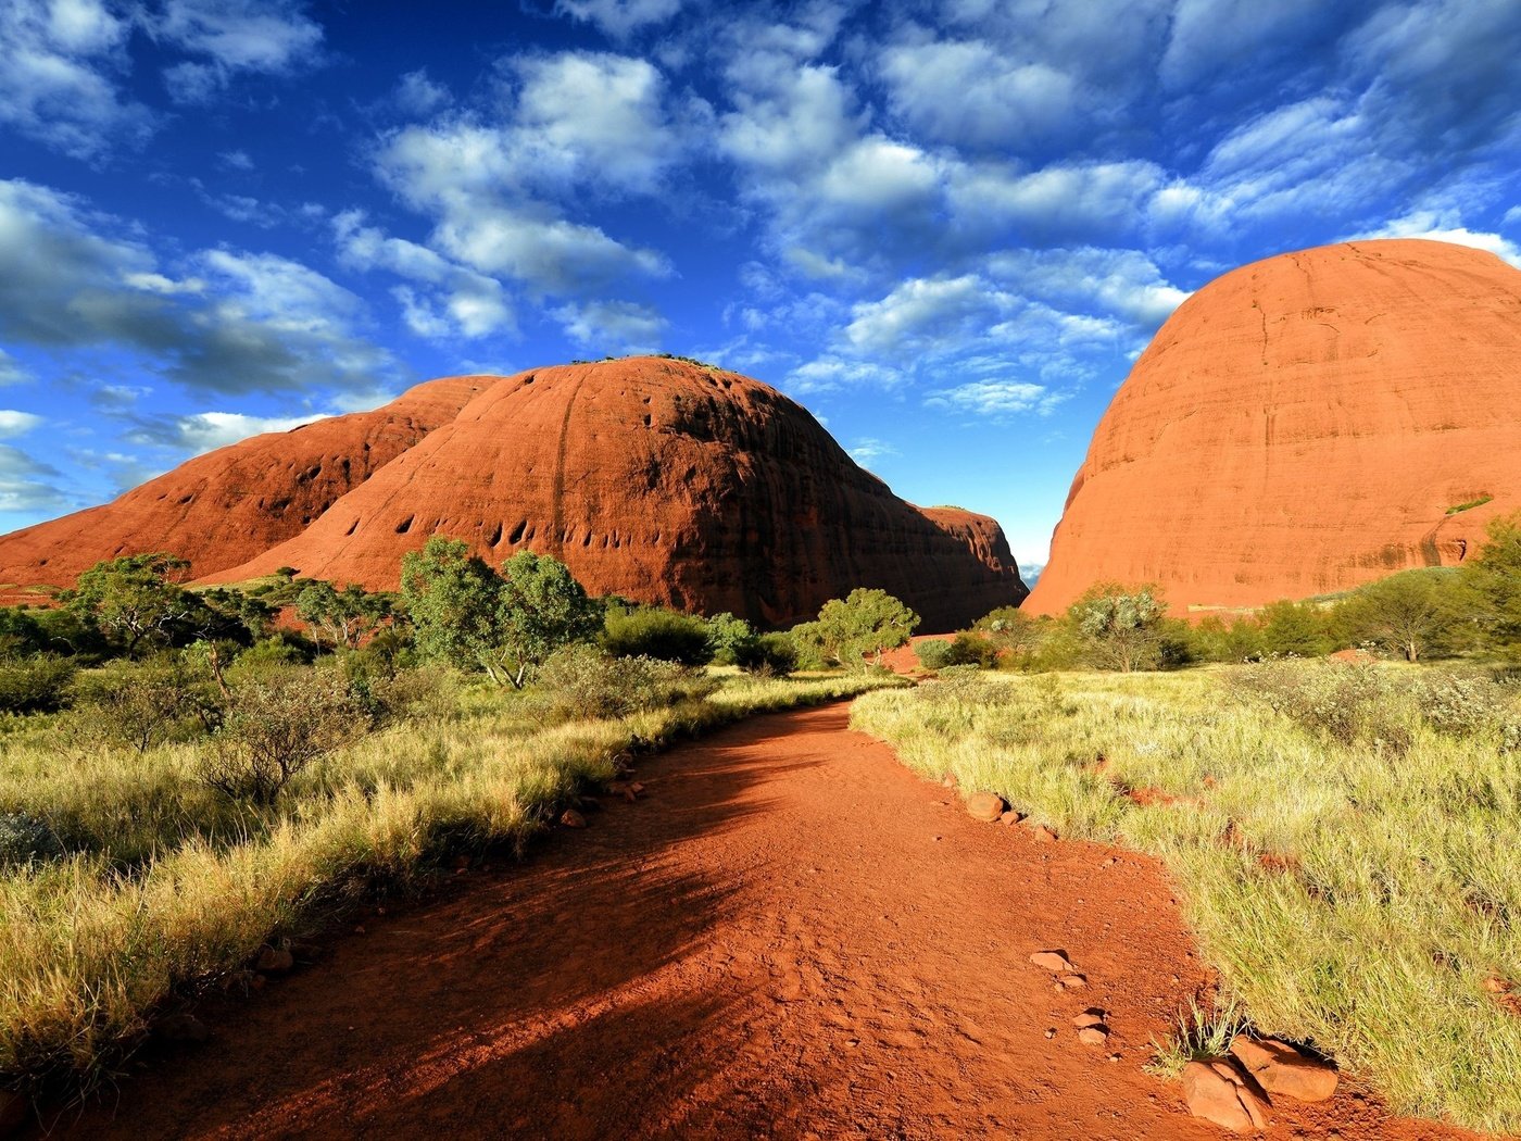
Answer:
M1234 697L1229 674L989 674L867 695L853 723L928 777L1165 861L1261 1033L1399 1112L1521 1129L1521 1019L1483 989L1521 980L1521 753L1498 727L1408 718L1398 747L1340 744Z

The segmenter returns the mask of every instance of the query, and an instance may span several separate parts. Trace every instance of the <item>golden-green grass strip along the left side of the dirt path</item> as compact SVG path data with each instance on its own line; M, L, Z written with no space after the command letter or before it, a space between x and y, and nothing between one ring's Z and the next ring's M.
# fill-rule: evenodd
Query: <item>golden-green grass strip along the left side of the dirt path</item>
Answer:
M0 812L46 820L73 855L0 869L0 1086L88 1086L172 995L348 898L421 882L447 853L522 850L630 750L896 683L726 677L704 700L552 727L532 701L467 689L447 715L315 765L265 811L207 790L195 745L137 755L70 744L64 717L11 718Z

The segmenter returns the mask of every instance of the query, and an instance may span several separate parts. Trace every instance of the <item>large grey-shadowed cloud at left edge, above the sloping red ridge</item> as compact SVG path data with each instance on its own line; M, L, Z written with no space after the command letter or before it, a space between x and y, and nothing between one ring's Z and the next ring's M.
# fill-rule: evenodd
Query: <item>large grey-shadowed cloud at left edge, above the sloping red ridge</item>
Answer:
M75 198L0 181L0 336L50 351L120 348L187 388L373 386L395 362L364 303L274 254L207 249L161 266Z

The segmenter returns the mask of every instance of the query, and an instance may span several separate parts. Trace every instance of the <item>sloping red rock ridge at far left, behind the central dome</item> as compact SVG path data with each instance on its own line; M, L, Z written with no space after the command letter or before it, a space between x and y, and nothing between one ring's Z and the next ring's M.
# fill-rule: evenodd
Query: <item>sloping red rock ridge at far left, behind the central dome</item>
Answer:
M430 380L402 399L196 456L113 504L0 539L0 583L71 586L103 558L170 551L192 574L236 566L300 534L491 382Z

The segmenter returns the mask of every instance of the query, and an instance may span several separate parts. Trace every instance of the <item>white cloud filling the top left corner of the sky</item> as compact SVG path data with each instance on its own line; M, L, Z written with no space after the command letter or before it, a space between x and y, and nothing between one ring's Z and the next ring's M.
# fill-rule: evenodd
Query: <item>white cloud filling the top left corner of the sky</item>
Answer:
M154 116L117 85L129 30L100 0L0 3L0 123L75 158L143 143Z

